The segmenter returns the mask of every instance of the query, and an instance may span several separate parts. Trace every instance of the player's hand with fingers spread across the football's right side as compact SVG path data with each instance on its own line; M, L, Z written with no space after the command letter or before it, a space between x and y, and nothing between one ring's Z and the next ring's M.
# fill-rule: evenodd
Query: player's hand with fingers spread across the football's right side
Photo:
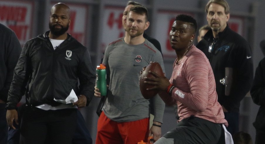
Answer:
M160 91L167 91L167 87L170 85L169 79L165 76L161 77L153 71L149 71L149 73L151 73L154 77L145 77L144 83L154 85L154 87L147 88L147 90L158 89Z

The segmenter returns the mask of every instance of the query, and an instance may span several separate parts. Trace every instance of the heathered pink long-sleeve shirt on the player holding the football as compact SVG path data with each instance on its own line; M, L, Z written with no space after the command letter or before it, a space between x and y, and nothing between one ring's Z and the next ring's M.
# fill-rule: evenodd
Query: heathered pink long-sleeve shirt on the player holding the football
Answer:
M172 96L164 95L166 104L178 105L179 121L194 115L213 123L228 125L222 106L218 103L215 78L205 54L192 46L181 61L174 62L170 78L176 88Z

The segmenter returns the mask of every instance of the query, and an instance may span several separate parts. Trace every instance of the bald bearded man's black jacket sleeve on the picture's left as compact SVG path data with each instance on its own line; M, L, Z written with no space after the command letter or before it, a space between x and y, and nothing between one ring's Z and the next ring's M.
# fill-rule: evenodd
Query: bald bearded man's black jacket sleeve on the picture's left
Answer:
M30 76L30 58L28 56L29 41L24 45L14 70L13 81L7 98L7 109L16 109L16 105L25 94Z

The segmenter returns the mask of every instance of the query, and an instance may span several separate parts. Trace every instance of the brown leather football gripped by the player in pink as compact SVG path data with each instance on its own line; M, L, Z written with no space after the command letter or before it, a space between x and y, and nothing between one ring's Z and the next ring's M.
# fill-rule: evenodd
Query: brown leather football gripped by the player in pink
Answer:
M158 93L158 90L146 90L147 88L152 88L154 85L144 83L145 77L154 77L148 71L154 71L159 76L164 77L163 70L158 62L153 62L148 65L140 76L139 84L140 84L140 91L145 99L150 99Z

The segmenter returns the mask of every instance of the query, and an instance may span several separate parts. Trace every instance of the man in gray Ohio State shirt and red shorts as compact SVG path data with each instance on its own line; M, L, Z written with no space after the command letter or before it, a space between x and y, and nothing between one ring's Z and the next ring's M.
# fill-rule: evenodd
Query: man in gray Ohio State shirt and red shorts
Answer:
M149 130L149 101L139 87L142 67L157 61L164 70L161 53L143 37L149 27L147 9L135 6L125 20L126 35L106 48L103 65L107 70L108 98L98 119L96 144L137 143L153 134L161 136L164 102L154 97L154 125ZM95 87L95 96L101 97Z

